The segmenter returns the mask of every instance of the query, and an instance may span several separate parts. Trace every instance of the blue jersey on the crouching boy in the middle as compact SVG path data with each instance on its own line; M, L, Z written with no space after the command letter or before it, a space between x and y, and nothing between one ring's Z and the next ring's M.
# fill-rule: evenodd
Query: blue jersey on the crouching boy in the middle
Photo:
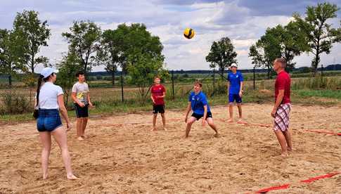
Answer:
M211 112L210 105L207 103L207 98L205 93L200 91L195 94L194 91L188 96L188 101L191 102L191 108L195 114L204 115L204 105L207 105L207 112Z

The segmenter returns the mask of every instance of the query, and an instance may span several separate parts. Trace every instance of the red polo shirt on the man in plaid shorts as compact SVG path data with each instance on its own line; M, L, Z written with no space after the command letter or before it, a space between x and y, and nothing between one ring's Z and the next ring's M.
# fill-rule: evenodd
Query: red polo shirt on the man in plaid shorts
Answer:
M284 90L283 101L281 104L290 103L290 75L282 71L277 75L275 82L275 102L279 93L279 90Z

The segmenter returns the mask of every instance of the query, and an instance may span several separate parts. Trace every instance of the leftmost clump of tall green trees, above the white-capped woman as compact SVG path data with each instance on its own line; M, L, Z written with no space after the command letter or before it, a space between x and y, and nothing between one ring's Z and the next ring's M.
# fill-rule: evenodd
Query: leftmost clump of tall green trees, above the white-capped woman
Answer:
M34 74L34 68L49 59L37 56L42 46L48 46L51 36L47 21L41 21L35 11L17 13L13 30L0 29L0 73L9 75L8 84L17 72Z

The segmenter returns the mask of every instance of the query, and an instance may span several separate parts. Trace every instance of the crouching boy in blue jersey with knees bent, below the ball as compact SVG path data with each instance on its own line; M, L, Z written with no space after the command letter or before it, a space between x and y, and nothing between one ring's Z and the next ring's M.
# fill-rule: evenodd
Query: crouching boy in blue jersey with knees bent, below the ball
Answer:
M195 82L193 91L188 97L188 105L186 108L186 117L185 122L187 124L186 126L186 135L185 137L188 137L189 131L191 131L192 124L203 117L202 119L202 127L205 126L206 121L208 125L215 131L214 136L218 136L217 127L215 126L213 119L212 119L212 112L210 110L210 105L207 103L207 98L205 93L201 91L202 84L200 82ZM193 114L188 119L189 112L193 110ZM205 118L205 119L204 119Z

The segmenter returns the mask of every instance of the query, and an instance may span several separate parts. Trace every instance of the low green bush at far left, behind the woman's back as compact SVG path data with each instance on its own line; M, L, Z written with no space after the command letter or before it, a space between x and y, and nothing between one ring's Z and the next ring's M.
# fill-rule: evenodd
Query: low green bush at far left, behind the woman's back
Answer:
M20 95L11 90L1 94L1 114L22 114L32 111L30 101L25 95Z

